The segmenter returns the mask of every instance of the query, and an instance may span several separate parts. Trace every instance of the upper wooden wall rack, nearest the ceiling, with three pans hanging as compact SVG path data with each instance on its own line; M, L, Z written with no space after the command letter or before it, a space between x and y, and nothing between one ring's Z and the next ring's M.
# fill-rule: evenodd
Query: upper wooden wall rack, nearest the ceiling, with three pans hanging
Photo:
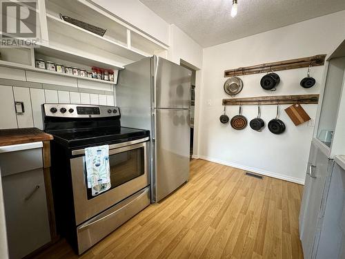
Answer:
M250 75L266 73L270 71L288 70L295 68L307 68L308 66L323 66L326 55L315 55L312 57L302 57L300 59L289 59L255 66L245 66L242 68L229 69L224 71L224 77L235 75Z

